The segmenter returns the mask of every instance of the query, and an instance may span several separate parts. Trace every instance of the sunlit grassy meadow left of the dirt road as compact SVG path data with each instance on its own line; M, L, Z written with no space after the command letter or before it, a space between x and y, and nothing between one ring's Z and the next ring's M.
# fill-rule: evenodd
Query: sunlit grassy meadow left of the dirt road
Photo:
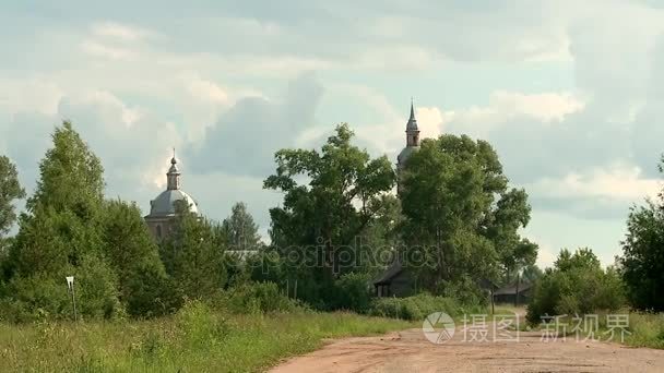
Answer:
M257 372L324 338L413 326L352 313L230 315L200 303L153 321L0 324L0 372Z

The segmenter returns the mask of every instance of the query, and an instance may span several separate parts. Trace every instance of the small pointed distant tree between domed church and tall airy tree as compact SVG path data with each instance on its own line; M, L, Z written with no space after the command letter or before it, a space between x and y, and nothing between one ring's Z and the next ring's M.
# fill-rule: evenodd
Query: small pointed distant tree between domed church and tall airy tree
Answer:
M253 251L261 246L258 225L244 202L233 206L230 216L222 221L222 229L229 240L229 250Z

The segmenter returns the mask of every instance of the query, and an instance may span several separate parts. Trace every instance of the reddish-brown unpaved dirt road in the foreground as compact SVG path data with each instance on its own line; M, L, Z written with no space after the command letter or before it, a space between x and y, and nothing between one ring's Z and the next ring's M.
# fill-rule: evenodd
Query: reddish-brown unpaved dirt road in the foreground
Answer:
M420 329L408 329L334 340L272 372L664 372L664 350L541 337L522 332L519 341L467 342L458 329L453 339L434 345Z

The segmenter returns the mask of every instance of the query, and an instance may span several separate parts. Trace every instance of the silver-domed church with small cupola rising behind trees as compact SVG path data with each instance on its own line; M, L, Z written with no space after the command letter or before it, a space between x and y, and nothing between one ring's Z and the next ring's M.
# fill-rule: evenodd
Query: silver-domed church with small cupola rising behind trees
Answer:
M192 213L199 212L195 201L182 191L180 175L174 151L170 168L166 172L166 190L150 201L150 214L144 217L150 232L157 241L162 241L170 233L178 202L186 203Z

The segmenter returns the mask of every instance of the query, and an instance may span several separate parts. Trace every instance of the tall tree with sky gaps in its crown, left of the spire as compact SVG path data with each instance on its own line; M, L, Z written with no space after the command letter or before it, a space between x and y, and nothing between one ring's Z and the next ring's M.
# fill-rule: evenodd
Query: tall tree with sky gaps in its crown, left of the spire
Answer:
M282 206L270 209L273 245L283 257L313 261L292 268L292 276L308 287L298 294L312 302L331 293L327 290L340 273L353 270L353 263L341 263L339 254L352 251L395 181L389 159L371 159L352 145L353 135L343 123L320 151L278 151L276 172L263 183L284 193Z

